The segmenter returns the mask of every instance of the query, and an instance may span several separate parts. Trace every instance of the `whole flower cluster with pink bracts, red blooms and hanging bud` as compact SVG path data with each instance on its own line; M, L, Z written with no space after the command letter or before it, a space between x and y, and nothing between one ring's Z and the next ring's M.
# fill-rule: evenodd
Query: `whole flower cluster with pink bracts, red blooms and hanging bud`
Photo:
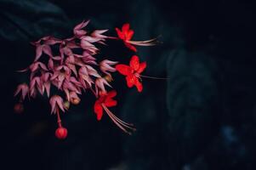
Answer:
M129 65L117 65L117 61L109 59L97 61L95 58L99 53L97 43L105 44L106 39L122 40L126 47L137 49L134 45L151 46L156 44L156 38L148 41L131 41L134 31L130 30L129 24L124 24L122 30L116 28L117 37L103 35L107 30L96 30L92 33L84 30L89 21L83 21L73 29L74 36L61 40L55 37L43 37L37 42L32 42L36 47L36 57L34 62L25 70L30 71L29 84L22 83L18 86L14 96L20 94L20 102L14 105L14 110L23 110L22 102L26 99L35 98L37 94L47 94L51 113L57 115L58 128L55 136L58 139L67 137L67 129L62 127L60 111L65 112L70 104L80 103L80 95L87 90L93 92L96 97L94 113L100 121L103 111L110 116L111 120L117 124L125 133L134 131L134 125L122 122L117 116L111 113L108 107L117 105L117 100L112 99L117 95L115 90L107 91L111 88L111 73L118 71L126 77L129 88L136 87L142 91L140 73L145 70L145 62L140 63L139 57L134 55L130 59ZM54 53L54 49L57 49ZM54 87L62 92L63 96L51 94Z

